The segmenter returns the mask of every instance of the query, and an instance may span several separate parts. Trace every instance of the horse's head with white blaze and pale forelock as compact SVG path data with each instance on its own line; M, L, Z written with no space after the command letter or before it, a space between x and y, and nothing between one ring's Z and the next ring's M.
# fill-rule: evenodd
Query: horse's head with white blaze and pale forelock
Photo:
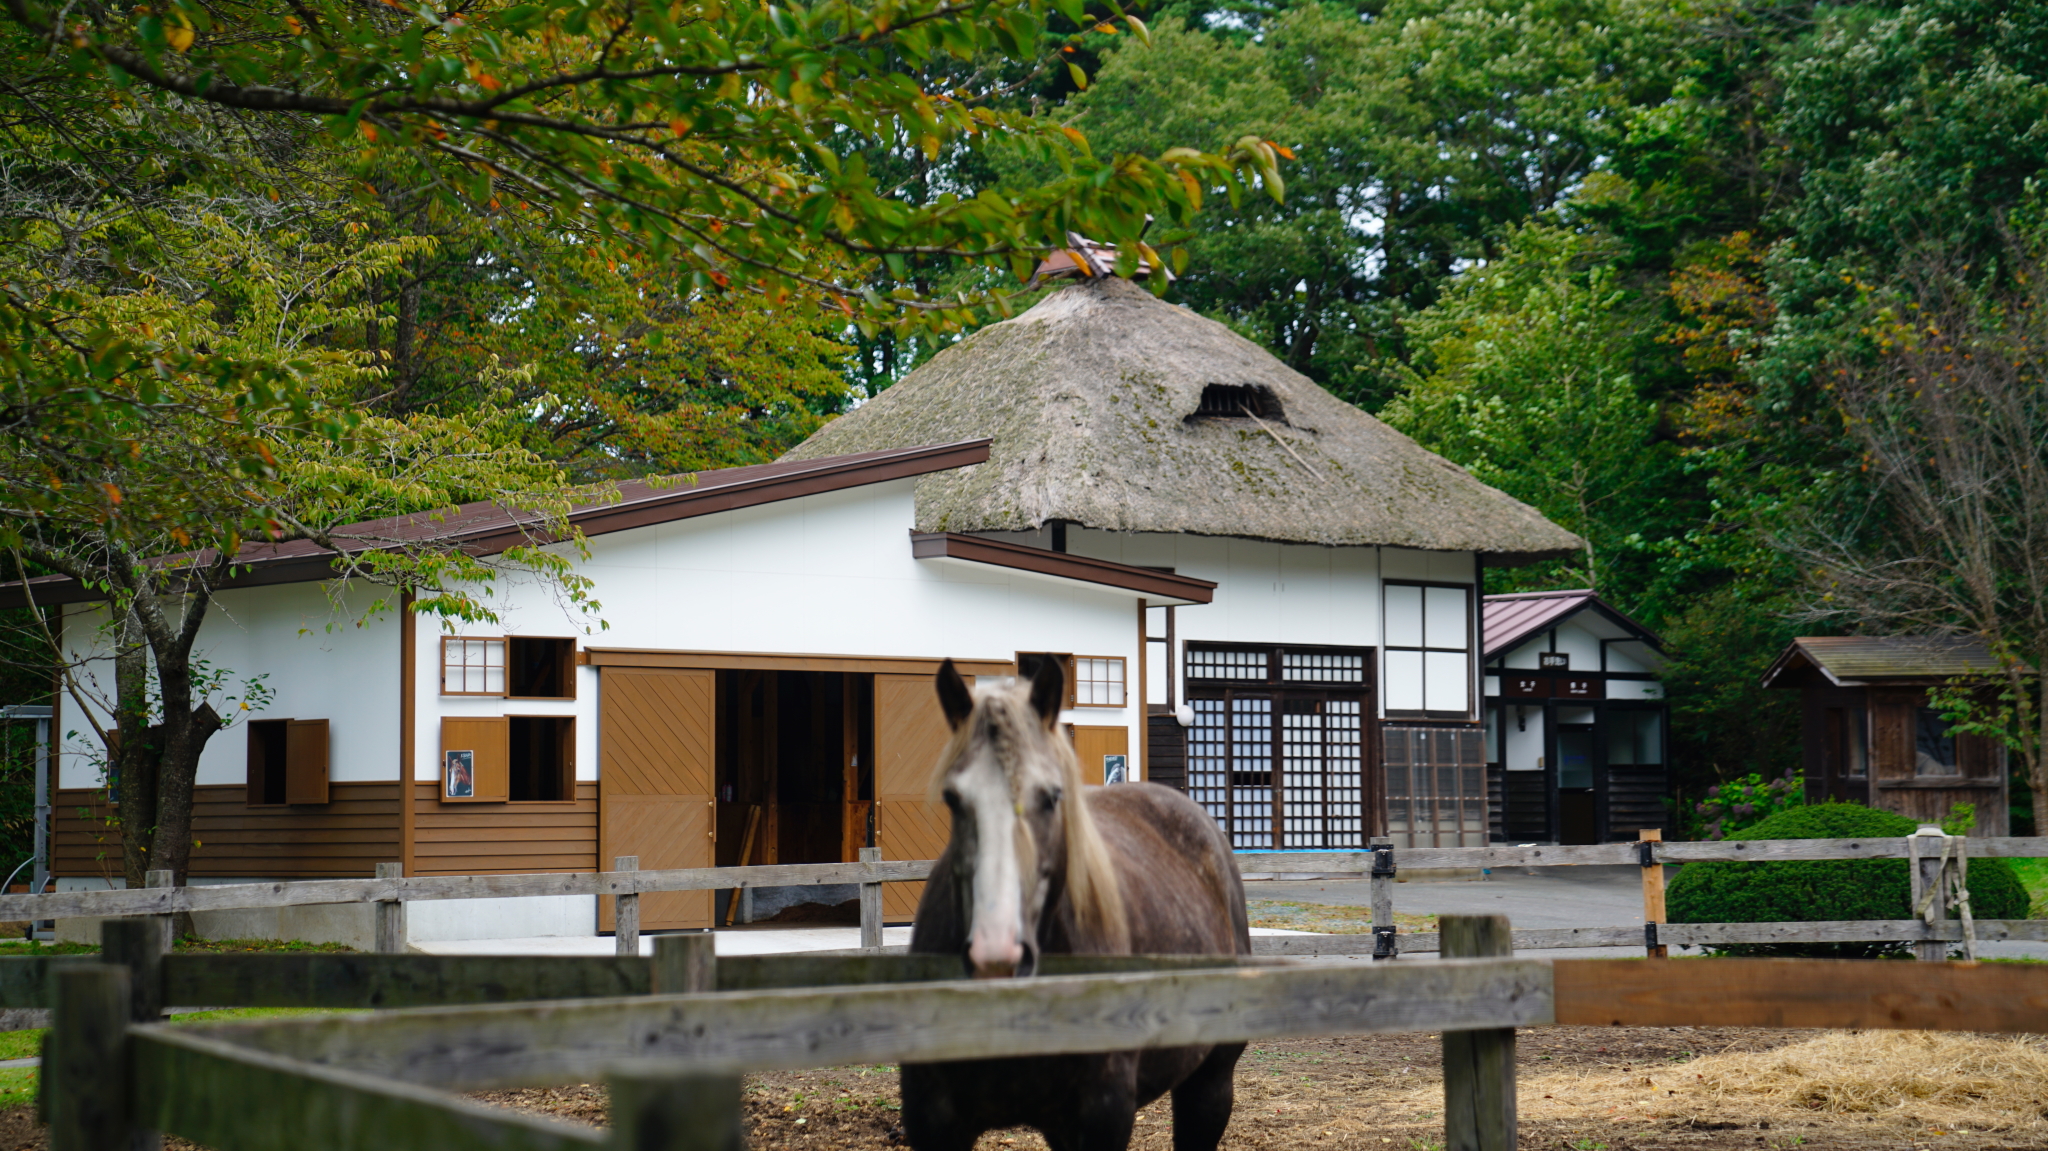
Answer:
M977 977L1030 975L1040 922L1061 895L1075 930L1104 944L1124 936L1116 875L1059 731L1065 694L1053 659L1001 688L969 688L950 659L938 670L952 725L938 791L952 809L952 887Z

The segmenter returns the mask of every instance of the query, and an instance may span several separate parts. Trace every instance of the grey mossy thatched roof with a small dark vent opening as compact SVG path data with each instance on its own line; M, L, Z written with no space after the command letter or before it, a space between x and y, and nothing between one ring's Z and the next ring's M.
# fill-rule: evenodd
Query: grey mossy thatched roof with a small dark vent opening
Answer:
M1233 414L1198 416L1208 385L1247 391L1210 389ZM979 436L995 440L987 463L918 481L918 530L1069 520L1491 563L1585 547L1223 324L1116 279L975 332L782 459Z

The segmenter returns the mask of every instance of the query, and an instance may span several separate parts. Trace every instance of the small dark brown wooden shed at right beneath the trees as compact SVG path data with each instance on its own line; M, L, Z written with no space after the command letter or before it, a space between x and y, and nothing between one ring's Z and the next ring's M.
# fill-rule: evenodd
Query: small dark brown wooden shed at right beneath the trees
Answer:
M1810 803L1866 803L1927 823L1948 819L1958 803L1974 803L1970 834L2005 836L2005 748L1950 731L1927 707L1929 688L1997 670L1978 639L1808 635L1778 655L1763 686L1804 696L1800 745Z

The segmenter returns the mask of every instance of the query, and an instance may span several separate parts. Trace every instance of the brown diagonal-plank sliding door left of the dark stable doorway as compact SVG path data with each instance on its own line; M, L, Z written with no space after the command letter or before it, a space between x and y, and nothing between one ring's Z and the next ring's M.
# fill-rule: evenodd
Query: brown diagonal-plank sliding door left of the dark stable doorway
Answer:
M598 866L713 866L717 674L604 668L600 696ZM709 926L709 891L641 895L641 930ZM610 899L598 899L598 930L612 930Z

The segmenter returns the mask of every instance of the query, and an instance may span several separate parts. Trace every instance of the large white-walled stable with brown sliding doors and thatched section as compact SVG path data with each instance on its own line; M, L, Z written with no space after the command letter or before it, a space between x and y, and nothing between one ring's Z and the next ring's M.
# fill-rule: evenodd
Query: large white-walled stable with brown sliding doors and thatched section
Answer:
M948 838L928 791L944 657L975 676L1061 662L1090 778L1182 786L1241 850L1483 844L1481 575L1581 547L1124 281L969 336L782 461L623 483L569 520L602 608L506 578L492 627L410 610L328 627L381 588L336 586L336 555L311 543L250 545L199 653L274 696L207 748L195 883L383 860L838 862L870 844L932 858ZM471 504L332 539L498 555L545 545L539 530ZM37 582L104 688L94 600ZM63 748L61 885L117 877L98 764ZM887 915L918 895L889 885ZM592 897L442 901L410 928L588 934L606 913ZM649 930L729 915L711 893L641 905Z

